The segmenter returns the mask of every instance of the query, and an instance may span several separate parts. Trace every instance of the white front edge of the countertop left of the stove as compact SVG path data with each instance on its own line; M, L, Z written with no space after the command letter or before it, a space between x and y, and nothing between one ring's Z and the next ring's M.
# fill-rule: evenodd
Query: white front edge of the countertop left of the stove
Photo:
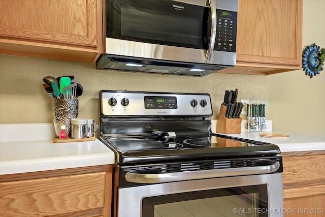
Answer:
M114 153L98 153L85 157L69 156L64 157L31 159L21 161L2 161L0 165L0 175L38 172L78 167L90 167L99 165L114 164Z

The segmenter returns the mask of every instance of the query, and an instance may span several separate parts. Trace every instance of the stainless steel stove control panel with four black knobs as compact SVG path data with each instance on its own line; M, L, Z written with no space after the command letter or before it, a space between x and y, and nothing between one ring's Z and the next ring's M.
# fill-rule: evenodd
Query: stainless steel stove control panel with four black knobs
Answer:
M100 91L104 116L211 116L209 94Z

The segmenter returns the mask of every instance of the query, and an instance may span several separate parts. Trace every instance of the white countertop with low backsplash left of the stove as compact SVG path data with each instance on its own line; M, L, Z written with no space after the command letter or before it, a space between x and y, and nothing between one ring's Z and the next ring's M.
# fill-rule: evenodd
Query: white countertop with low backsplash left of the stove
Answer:
M114 164L113 151L98 139L54 143L54 137L51 123L0 124L0 175Z

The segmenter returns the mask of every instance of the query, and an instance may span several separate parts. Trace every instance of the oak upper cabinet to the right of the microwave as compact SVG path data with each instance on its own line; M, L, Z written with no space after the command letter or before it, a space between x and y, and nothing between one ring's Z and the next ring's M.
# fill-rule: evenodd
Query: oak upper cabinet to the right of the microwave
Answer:
M236 67L220 72L301 69L302 0L239 0L237 25Z

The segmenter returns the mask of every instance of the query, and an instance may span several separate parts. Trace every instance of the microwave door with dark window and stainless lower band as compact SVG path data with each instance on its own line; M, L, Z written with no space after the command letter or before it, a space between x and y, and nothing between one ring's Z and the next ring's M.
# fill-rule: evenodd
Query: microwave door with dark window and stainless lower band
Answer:
M214 5L214 1L210 1ZM216 38L215 6L212 7L214 12L211 13L209 6L170 0L107 0L106 4L106 38L124 41L114 41L119 53L112 51L115 46L113 43L107 46L107 49L110 49L107 53L212 63ZM153 45L154 51L141 53L146 56L139 55L139 47L144 49Z

